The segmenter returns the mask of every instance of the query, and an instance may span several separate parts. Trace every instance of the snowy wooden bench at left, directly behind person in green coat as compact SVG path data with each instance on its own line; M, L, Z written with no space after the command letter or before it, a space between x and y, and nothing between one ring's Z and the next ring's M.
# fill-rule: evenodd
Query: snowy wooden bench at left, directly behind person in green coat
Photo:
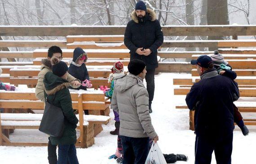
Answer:
M37 100L34 89L29 91L0 91L0 108L5 111L9 109L20 111L22 109L44 110L44 103ZM102 131L102 124L108 123L110 117L84 116L83 110L88 110L90 115L109 115L109 104L103 92L75 93L71 91L73 109L79 111L78 128L80 136L77 146L90 147L94 144L94 137ZM2 114L1 114L2 115ZM32 118L31 118L32 117ZM28 114L3 114L0 116L0 145L4 146L46 146L47 143L39 142L11 142L9 140L9 129L38 129L41 115L28 116ZM82 125L82 126L81 126Z

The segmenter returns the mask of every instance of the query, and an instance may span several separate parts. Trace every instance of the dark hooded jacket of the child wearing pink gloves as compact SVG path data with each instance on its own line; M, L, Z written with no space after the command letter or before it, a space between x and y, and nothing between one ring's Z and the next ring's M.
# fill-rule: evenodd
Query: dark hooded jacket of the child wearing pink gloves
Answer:
M75 48L75 50L73 52L73 61L68 68L68 73L71 74L73 77L79 79L81 82L83 82L86 79L87 80L90 79L86 65L84 63L82 65L77 64L79 59L82 58L82 56L86 56L86 59L87 59L87 55L82 48L80 48L80 47ZM86 86L80 86L75 89L86 90Z

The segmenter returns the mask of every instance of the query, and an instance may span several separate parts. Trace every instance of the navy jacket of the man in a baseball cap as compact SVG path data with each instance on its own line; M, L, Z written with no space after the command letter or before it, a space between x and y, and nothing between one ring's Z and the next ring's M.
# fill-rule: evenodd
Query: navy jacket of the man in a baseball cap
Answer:
M212 71L216 69L205 73ZM238 85L229 77L216 75L195 83L186 96L186 103L190 110L195 110L196 134L221 138L233 133L233 102L238 98Z

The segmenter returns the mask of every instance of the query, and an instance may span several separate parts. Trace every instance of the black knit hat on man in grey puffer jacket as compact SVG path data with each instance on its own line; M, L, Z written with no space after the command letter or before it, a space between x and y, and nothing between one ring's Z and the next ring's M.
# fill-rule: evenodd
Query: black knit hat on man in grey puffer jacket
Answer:
M146 67L146 64L142 60L134 59L129 62L128 64L128 71L129 73L134 74L137 76L140 74Z

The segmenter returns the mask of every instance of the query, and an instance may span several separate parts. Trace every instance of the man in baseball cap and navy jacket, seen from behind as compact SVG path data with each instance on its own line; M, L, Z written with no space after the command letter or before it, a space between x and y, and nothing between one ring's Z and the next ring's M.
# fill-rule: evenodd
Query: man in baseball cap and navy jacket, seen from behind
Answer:
M234 108L239 98L236 82L218 75L211 57L191 60L201 80L186 96L190 110L195 110L195 164L210 164L215 152L217 164L231 164Z

